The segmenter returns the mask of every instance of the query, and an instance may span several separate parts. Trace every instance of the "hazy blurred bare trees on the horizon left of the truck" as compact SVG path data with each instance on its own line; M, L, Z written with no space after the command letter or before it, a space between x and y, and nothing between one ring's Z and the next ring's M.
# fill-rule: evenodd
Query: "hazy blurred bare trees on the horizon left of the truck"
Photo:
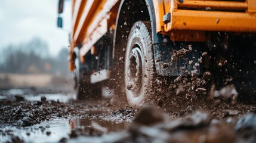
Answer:
M59 54L52 58L47 42L40 38L33 38L20 45L8 45L2 50L0 72L66 74L67 52L67 48L62 48Z

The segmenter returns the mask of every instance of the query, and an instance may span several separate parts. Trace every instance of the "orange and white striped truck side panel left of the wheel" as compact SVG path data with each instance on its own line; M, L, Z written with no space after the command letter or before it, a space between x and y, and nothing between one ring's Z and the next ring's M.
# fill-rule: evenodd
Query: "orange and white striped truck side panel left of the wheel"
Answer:
M73 0L73 15L72 15L72 38L70 46L70 57L73 57L73 48L82 45L80 50L81 60L92 45L98 41L109 29L112 21L107 21L110 17L110 11L118 2L115 1L100 1L88 0L79 1ZM115 21L115 19L113 20ZM77 55L78 56L78 55ZM70 64L72 65L72 58ZM70 71L73 71L74 66L70 66Z

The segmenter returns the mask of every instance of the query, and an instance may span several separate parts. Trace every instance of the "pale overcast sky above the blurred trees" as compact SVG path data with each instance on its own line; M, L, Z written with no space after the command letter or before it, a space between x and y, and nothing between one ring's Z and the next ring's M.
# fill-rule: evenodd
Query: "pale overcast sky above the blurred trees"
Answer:
M1 0L0 52L10 44L26 43L33 37L48 43L51 56L69 46L71 2L65 1L63 26L57 28L58 0Z

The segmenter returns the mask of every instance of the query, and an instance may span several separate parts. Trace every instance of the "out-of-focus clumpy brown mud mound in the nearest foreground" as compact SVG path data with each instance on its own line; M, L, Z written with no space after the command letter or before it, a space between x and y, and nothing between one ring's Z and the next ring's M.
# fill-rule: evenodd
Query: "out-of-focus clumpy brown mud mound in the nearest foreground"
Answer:
M250 113L240 118L237 123L221 123L212 119L211 115L199 111L184 119L173 120L161 115L153 107L144 107L127 131L94 138L81 136L76 141L255 142L255 120L256 114Z

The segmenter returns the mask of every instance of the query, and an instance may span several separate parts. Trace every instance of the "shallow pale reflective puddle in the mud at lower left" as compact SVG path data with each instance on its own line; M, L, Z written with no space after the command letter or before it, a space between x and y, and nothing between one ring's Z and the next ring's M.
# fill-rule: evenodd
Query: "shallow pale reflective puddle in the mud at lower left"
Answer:
M50 128L47 128L47 126L50 126ZM98 135L97 133L118 132L127 128L128 125L125 123L115 123L105 120L54 119L26 128L13 126L2 128L0 129L0 142L11 141L10 134L18 136L24 142L58 142L61 138L69 138L72 130L78 130L78 135L89 136ZM47 132L51 132L50 135L47 135Z

